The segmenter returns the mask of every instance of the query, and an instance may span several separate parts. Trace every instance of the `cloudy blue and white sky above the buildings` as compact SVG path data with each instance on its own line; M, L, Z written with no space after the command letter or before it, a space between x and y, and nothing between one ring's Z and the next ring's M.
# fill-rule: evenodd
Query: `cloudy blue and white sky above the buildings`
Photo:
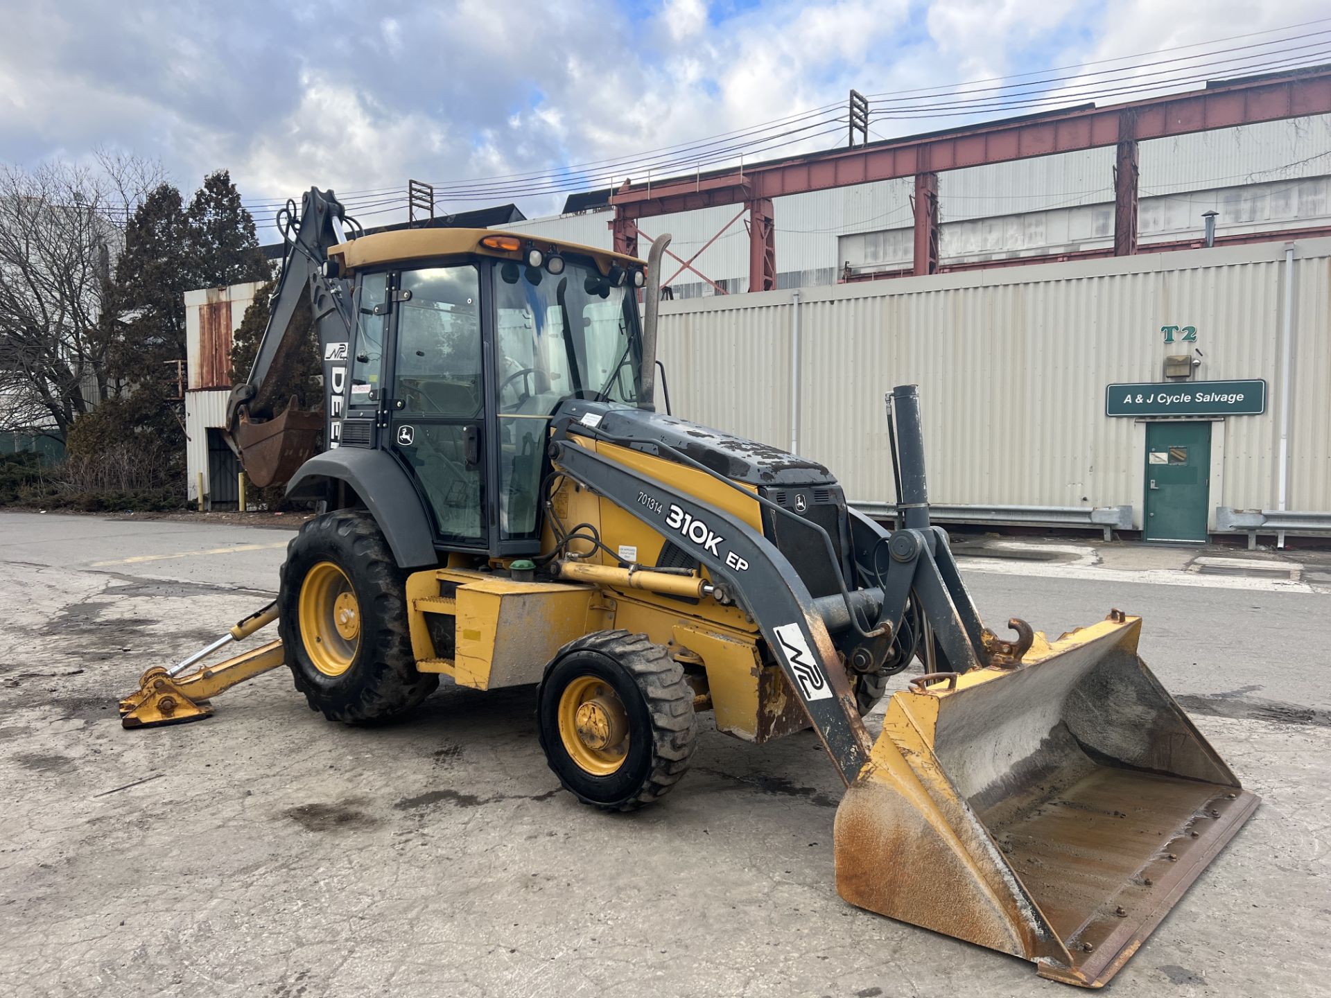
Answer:
M843 102L852 86L985 80L1327 13L1324 0L0 0L0 160L121 149L186 189L226 168L262 221L264 202L311 184L558 169ZM780 152L843 141L801 138ZM510 198L447 208L496 200ZM563 194L516 200L535 217Z

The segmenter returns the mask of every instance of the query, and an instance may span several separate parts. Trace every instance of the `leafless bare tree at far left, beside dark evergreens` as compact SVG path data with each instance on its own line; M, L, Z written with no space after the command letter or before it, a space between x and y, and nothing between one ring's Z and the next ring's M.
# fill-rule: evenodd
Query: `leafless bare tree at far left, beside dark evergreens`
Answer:
M114 390L97 321L152 166L0 165L0 430L64 438Z

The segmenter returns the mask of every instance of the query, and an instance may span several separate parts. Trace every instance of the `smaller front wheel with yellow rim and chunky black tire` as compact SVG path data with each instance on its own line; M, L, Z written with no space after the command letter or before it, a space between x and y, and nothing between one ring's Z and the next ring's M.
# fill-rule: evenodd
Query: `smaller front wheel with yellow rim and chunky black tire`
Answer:
M668 793L697 740L684 671L628 631L560 648L536 688L536 720L559 782L602 810L635 810Z

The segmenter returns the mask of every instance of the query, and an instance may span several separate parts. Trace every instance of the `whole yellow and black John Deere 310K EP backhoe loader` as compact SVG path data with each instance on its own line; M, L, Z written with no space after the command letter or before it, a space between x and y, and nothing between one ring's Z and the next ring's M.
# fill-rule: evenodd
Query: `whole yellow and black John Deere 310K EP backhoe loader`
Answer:
M256 483L319 515L276 603L149 669L126 728L204 717L282 664L347 723L401 713L441 676L538 684L550 768L607 810L679 782L699 712L753 743L812 728L848 788L844 898L1091 987L1256 808L1138 657L1138 617L1053 641L982 624L929 523L914 387L888 397L905 512L890 531L816 462L669 415L667 237L644 265L488 230L365 236L318 189L284 230L229 434ZM301 301L322 413L265 394ZM278 640L202 664L274 620ZM861 716L916 659L925 675L870 739Z

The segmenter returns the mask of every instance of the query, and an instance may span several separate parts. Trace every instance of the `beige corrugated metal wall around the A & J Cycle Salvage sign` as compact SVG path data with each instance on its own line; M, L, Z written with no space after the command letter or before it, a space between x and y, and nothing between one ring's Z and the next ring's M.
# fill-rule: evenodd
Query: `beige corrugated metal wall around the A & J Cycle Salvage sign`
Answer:
M1331 510L1331 240L1296 244L1290 508ZM918 383L929 484L946 504L1131 504L1145 424L1111 382L1158 382L1163 325L1193 325L1198 379L1263 378L1260 416L1217 423L1209 506L1272 508L1283 246L1037 265L800 293L800 452L848 496L892 498L882 395ZM788 447L792 294L662 305L673 411ZM1223 455L1222 458L1219 455Z

